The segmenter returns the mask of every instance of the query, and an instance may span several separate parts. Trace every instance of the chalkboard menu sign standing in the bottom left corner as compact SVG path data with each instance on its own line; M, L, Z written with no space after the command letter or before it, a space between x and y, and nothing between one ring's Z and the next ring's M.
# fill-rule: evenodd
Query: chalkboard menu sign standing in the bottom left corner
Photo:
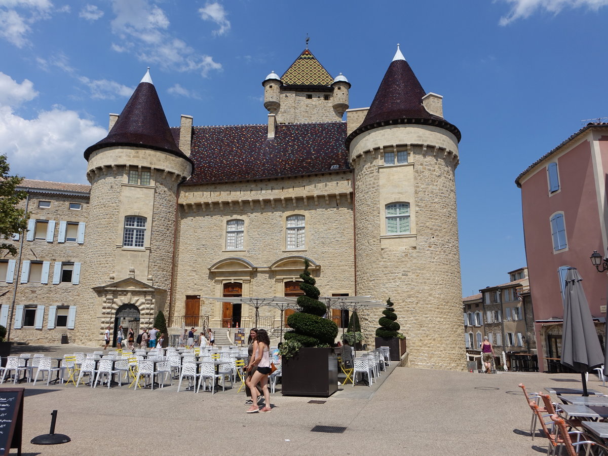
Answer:
M23 388L0 388L0 454L7 456L11 448L21 454L23 430Z

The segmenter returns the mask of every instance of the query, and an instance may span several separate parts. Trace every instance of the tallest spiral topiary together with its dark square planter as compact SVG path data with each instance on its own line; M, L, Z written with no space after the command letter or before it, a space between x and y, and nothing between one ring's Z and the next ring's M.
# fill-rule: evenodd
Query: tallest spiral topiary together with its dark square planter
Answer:
M287 323L292 328L285 333L280 352L282 358L282 394L284 396L329 397L338 389L337 355L332 345L338 327L332 320L323 318L325 305L318 300L320 292L316 280L308 271L300 274L298 297L300 311L291 314Z

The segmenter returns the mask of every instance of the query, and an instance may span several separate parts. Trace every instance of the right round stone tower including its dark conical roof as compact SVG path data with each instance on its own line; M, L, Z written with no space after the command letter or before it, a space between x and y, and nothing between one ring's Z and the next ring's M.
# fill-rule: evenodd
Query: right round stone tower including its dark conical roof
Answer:
M440 95L425 94L397 49L367 116L347 137L356 292L395 303L410 366L463 370L460 131L442 116ZM378 316L367 318L378 326Z

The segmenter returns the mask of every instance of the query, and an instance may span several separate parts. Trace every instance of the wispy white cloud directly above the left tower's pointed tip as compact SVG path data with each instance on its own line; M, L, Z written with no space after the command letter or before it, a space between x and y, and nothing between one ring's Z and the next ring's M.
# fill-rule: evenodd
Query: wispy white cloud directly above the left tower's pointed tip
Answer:
M169 19L156 5L147 0L113 0L112 10L116 14L111 22L112 32L120 43L111 45L116 52L131 52L150 66L171 71L199 71L203 76L221 71L221 64L213 57L198 54L168 31Z

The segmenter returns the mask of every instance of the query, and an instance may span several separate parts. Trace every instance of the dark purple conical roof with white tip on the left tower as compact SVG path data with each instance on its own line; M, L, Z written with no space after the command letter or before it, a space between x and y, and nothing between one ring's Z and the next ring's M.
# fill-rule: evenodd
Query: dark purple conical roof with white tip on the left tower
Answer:
M176 145L148 71L126 103L108 136L85 150L85 159L105 147L131 146L167 152L188 161Z

